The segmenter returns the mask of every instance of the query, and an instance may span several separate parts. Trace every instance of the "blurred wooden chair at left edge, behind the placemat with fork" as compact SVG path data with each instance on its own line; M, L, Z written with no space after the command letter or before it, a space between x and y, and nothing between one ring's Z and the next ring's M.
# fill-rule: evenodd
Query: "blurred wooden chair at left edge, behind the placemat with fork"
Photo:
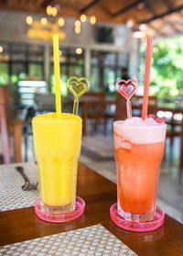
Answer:
M2 148L5 163L10 163L9 133L14 135L14 159L15 162L22 161L22 124L24 120L11 118L8 115L9 90L0 87L0 126L2 137Z

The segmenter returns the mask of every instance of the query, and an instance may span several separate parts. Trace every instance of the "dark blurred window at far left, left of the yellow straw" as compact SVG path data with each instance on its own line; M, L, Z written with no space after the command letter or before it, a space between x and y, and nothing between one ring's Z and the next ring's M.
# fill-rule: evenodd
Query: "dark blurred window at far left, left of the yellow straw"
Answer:
M0 43L0 83L19 80L44 80L43 46L37 44Z

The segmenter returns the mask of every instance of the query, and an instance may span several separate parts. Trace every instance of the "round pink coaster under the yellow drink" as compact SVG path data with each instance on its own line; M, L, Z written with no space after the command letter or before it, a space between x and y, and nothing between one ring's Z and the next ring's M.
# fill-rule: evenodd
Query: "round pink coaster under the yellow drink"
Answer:
M35 213L38 217L49 222L66 222L81 217L84 212L85 202L80 196L76 196L75 210L68 214L51 214L40 209L40 199L35 202Z

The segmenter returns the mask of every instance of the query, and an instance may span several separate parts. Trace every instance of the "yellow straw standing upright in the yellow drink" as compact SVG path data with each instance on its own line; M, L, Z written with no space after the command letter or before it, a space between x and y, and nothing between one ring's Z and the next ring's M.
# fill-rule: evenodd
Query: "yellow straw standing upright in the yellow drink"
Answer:
M61 117L61 95L59 80L59 35L53 35L53 56L55 71L55 100L56 100L56 117Z

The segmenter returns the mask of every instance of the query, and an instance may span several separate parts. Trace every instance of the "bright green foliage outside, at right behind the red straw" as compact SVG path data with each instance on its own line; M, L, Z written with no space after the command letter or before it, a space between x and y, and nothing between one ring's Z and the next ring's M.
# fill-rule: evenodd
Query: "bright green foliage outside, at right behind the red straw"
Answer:
M140 78L144 79L145 48L141 46ZM142 81L141 81L142 82ZM183 36L162 39L153 45L150 92L163 102L183 95Z

